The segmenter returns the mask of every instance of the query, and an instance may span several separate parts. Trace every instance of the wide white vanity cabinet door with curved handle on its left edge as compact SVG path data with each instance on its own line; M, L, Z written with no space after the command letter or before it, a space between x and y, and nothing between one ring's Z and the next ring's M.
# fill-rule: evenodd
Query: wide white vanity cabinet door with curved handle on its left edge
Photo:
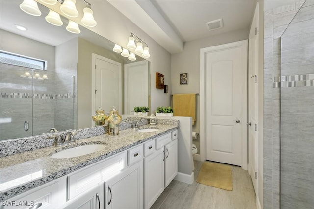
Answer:
M105 182L106 209L143 209L143 160Z

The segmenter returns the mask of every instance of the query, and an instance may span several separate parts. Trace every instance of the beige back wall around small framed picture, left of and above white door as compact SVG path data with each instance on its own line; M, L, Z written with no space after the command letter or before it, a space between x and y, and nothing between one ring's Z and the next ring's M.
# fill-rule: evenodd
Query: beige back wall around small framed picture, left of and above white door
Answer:
M171 85L172 93L200 92L200 49L248 39L249 30L237 30L219 36L199 39L184 43L183 52L171 55ZM180 74L188 73L188 84L180 85ZM204 96L204 95L200 95ZM193 131L200 133L200 96L196 97L196 121ZM200 138L193 140L198 154L200 153Z

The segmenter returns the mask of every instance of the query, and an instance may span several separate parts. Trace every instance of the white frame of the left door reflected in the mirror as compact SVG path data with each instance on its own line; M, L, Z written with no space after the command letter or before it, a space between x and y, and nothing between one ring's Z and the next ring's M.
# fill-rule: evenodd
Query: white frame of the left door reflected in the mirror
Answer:
M95 70L96 70L96 58L100 59L100 60L104 60L106 62L115 64L119 67L119 106L116 107L116 109L121 110L122 111L122 65L121 63L114 61L114 60L110 60L106 57L103 57L101 55L98 54L94 54L92 53L92 113L91 116L93 116L95 114ZM92 127L95 126L94 121L92 120Z

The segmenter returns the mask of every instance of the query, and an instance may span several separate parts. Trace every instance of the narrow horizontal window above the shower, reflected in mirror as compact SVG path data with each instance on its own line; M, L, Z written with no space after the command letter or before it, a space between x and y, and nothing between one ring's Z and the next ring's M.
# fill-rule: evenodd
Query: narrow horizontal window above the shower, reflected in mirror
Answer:
M0 51L0 62L23 66L26 68L47 70L47 61L39 60L32 57L26 57L19 54L14 54L6 51Z

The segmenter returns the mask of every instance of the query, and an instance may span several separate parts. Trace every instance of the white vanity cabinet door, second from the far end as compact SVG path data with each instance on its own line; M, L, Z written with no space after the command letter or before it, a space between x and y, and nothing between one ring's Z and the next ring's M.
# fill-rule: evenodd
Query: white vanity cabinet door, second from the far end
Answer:
M164 149L144 159L145 176L145 209L149 209L164 190Z

